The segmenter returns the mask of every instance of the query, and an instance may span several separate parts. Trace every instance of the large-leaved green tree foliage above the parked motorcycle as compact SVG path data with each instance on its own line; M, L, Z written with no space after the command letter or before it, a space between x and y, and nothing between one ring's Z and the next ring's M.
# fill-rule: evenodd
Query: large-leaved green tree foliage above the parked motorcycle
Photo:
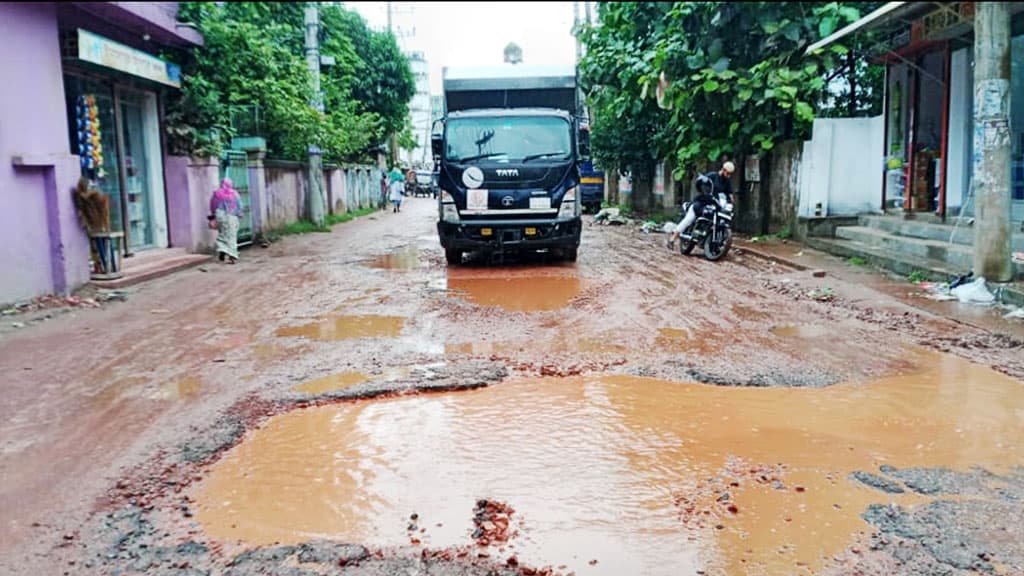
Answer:
M625 147L641 146L674 156L681 177L686 166L806 137L848 47L804 52L865 4L599 4L600 24L582 31L581 63L595 156L633 165L642 153Z

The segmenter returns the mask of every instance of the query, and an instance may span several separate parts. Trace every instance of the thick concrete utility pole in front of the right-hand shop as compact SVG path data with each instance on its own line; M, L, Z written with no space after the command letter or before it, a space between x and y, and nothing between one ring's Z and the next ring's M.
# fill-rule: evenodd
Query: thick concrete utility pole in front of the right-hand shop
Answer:
M1010 5L975 6L974 274L1010 282Z

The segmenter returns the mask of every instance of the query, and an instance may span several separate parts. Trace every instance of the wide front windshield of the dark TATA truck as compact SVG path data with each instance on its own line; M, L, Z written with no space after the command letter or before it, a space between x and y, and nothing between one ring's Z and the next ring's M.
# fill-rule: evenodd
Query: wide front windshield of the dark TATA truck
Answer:
M447 123L445 157L453 162L567 160L570 136L569 123L557 117L455 118Z

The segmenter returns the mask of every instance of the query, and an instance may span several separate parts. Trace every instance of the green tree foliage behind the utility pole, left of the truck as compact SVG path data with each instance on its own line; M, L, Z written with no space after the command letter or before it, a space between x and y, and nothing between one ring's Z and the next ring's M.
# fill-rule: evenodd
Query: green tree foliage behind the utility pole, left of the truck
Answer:
M236 135L232 111L256 108L274 157L300 160L314 145L328 160L366 159L408 115L412 71L391 35L337 4L321 12L321 53L337 63L321 73L325 114L310 104L302 3L183 3L179 19L196 24L205 43L177 58L183 82L168 107L172 151L217 154ZM387 89L365 89L366 78Z

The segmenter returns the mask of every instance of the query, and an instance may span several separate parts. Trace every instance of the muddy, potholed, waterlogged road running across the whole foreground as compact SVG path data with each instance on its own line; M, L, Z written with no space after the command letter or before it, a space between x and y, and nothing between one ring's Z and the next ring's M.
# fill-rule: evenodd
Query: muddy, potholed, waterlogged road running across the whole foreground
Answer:
M0 573L1024 574L1012 333L403 208L0 337Z

